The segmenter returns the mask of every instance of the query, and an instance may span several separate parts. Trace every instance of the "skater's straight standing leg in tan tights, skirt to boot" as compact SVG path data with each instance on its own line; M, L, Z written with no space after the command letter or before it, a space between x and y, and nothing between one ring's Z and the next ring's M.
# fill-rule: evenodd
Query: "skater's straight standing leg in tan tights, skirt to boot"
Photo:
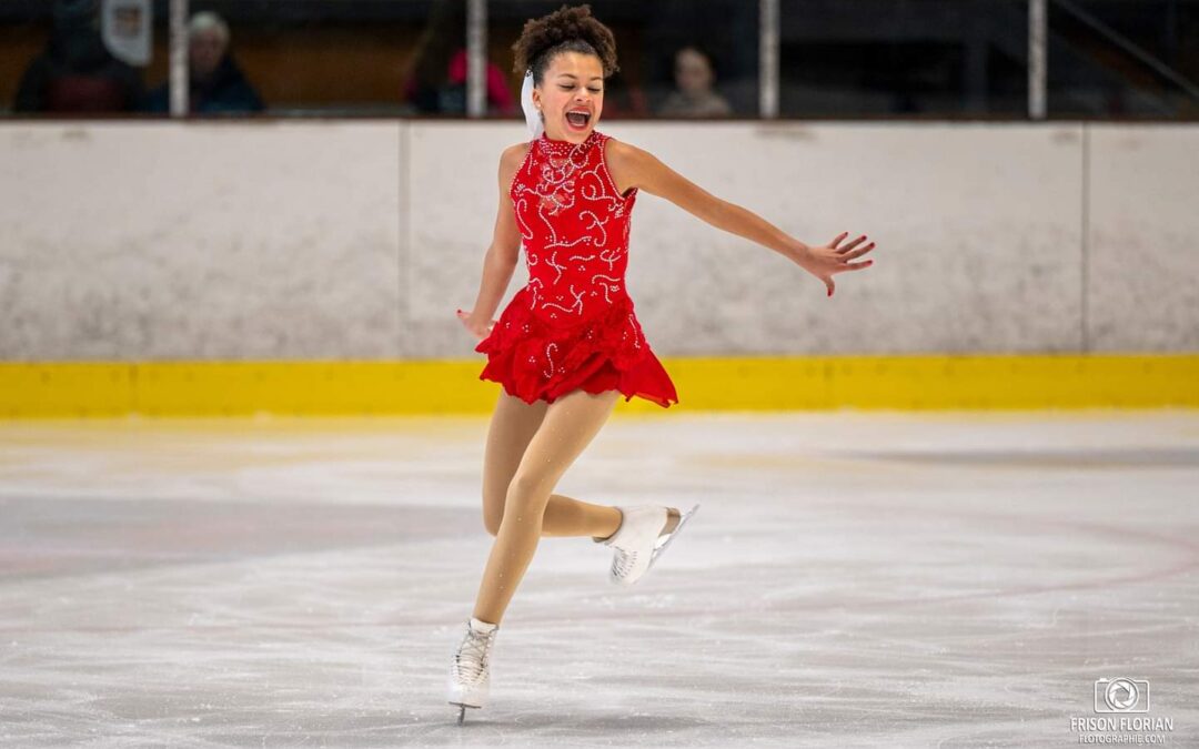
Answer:
M477 618L500 623L537 550L554 485L603 427L619 397L617 391L577 389L549 404L508 484L504 519L475 602Z

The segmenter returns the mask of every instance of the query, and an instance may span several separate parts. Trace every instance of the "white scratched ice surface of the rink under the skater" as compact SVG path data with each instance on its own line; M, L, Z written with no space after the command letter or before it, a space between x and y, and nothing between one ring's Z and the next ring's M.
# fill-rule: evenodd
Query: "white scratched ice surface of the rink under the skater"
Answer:
M556 491L699 512L543 538L464 726L486 417L0 423L0 745L1199 745L1199 412L671 411Z

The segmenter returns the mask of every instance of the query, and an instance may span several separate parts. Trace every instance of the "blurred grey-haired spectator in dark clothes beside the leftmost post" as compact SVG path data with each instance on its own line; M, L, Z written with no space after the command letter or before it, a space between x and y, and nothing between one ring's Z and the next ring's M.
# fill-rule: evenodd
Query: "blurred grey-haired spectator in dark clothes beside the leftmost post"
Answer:
M187 105L192 114L261 111L263 99L229 52L229 24L211 12L187 24ZM170 80L150 92L145 111L170 111Z

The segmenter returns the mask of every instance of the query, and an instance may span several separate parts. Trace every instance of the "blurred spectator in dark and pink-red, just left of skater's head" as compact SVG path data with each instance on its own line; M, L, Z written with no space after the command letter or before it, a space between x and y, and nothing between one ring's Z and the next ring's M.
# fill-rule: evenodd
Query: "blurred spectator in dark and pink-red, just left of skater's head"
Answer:
M487 61L487 113L518 114L507 77ZM408 64L400 99L422 114L466 114L466 8L462 0L433 6Z

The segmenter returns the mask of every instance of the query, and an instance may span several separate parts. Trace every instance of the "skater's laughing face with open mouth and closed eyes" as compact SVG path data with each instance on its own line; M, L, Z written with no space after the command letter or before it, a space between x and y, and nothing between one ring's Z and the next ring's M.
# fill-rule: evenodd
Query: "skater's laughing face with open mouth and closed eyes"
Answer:
M546 137L583 143L603 111L603 65L600 58L578 52L554 55L532 103L546 117Z

